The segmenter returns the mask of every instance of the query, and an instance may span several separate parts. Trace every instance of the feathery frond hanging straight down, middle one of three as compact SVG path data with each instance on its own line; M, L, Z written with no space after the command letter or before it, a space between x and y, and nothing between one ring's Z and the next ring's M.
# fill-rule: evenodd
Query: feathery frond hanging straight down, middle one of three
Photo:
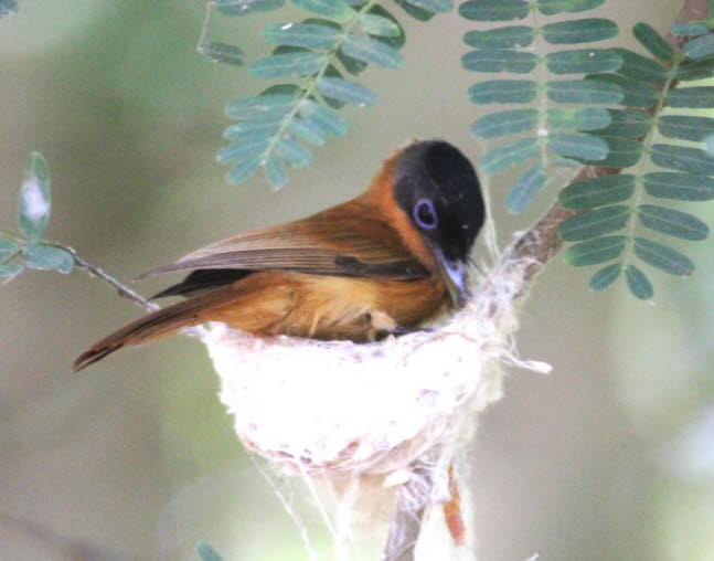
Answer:
M597 8L604 0L469 0L459 13L479 22L525 20L530 25L507 25L463 35L475 47L463 55L461 64L473 72L532 74L531 80L492 80L479 82L469 89L475 104L529 104L529 108L491 113L477 119L471 133L487 140L519 135L521 138L490 149L480 169L498 173L526 165L507 198L513 213L523 211L543 189L547 169L568 165L572 158L604 160L607 142L594 135L611 124L603 105L618 103L620 89L605 82L573 80L573 74L607 73L622 64L620 54L608 49L583 47L585 43L605 41L618 33L617 24L601 18L578 18L539 24L540 17L583 12ZM578 45L545 55L533 51L536 42L550 45ZM546 75L568 76L546 80ZM576 108L560 104L577 104ZM525 138L522 138L525 137Z

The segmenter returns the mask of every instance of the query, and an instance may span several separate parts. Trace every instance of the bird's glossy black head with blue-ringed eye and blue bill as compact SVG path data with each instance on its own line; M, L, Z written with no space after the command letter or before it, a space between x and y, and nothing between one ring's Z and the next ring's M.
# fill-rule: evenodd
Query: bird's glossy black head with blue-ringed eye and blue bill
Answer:
M473 166L448 142L416 142L396 165L394 198L434 252L455 304L460 304L465 263L486 220Z

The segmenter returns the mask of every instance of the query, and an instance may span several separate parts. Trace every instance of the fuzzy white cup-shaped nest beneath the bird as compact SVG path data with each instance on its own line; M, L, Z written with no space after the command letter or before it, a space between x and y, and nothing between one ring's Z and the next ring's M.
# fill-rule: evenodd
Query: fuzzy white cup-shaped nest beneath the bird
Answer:
M204 342L238 437L288 473L404 483L415 459L468 440L475 412L501 396L503 361L550 368L518 359L512 346L526 265L502 264L438 329L380 343L213 327Z

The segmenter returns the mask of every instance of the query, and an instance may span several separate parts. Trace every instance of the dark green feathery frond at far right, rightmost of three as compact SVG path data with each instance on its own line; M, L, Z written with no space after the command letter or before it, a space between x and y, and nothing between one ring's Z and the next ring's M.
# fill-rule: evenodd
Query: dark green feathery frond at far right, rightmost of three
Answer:
M678 25L674 31L702 31L699 24L693 25ZM706 28L705 34L675 53L647 23L635 25L633 33L651 57L616 49L624 61L617 73L587 77L617 84L625 106L610 109L612 123L596 133L609 145L607 157L587 162L629 169L563 189L561 204L585 212L564 222L560 234L575 242L565 252L565 261L572 265L615 261L593 275L592 288L601 290L624 273L632 295L651 299L652 284L636 262L689 276L694 264L671 247L670 240L702 241L710 233L704 221L671 208L671 203L714 199L714 157L693 145L712 134L714 118L692 115L692 109L714 108L714 87L690 83L712 75L714 47L706 45L714 34Z

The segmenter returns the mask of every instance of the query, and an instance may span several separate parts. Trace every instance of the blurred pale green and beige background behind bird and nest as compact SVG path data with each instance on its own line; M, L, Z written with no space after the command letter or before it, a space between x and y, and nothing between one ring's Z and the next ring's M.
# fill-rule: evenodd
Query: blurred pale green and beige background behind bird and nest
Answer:
M618 41L633 47L636 21L665 31L679 7L611 0L598 15L616 19ZM45 0L0 20L0 225L14 224L25 158L40 150L53 179L47 236L129 280L353 197L409 137L444 137L475 160L483 152L468 133L476 75L459 64L471 25L455 14L423 24L395 9L405 67L364 74L379 105L347 108L349 136L283 191L263 178L227 186L214 163L223 105L263 84L195 53L204 8ZM262 27L289 20L215 14L210 36L252 61L267 52ZM503 241L547 205L507 215L511 179L491 181ZM714 223L711 204L694 213ZM554 370L513 372L481 420L471 462L480 560L714 559L712 244L689 253L695 276L653 275L654 306L622 286L590 293L592 272L560 263L537 282L519 346ZM199 539L228 560L307 559L234 438L199 343L174 337L70 373L81 350L138 314L82 273L28 272L0 287L0 559L189 560ZM284 487L299 501L301 487Z

